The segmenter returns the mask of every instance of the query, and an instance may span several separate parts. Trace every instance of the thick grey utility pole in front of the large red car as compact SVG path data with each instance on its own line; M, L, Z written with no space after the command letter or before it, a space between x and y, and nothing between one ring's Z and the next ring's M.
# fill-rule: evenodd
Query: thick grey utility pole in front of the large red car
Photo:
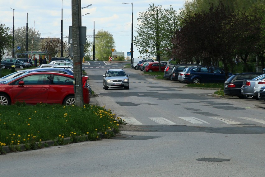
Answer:
M81 26L81 0L72 0L72 45L75 78L75 105L83 107L82 61L80 56L79 27Z

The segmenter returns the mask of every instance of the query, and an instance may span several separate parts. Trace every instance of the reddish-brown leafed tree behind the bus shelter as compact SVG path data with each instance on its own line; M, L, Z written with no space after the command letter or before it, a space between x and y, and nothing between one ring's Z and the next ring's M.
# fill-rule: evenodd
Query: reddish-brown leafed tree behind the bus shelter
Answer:
M63 42L63 51L69 50L70 45L67 41ZM59 38L46 38L43 40L41 45L41 51L45 52L46 55L51 55L52 57L57 57L61 55L61 39ZM67 57L69 57L69 53L66 52Z

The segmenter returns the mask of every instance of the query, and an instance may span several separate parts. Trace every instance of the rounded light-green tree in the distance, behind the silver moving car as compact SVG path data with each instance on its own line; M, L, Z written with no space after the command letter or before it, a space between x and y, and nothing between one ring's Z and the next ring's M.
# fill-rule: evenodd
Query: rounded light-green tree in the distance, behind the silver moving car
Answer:
M115 48L112 34L108 31L99 30L95 36L95 58L98 60L109 60L111 49ZM91 51L93 51L93 49L91 49Z

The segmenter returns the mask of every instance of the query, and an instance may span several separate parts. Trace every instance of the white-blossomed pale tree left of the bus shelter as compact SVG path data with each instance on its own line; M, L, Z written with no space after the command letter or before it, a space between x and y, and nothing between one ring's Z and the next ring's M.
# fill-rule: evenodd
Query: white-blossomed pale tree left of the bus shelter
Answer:
M9 32L13 34L13 29ZM41 38L39 31L34 28L28 28L28 51L38 51L41 46ZM17 50L17 46L20 46L20 50ZM25 54L26 53L26 26L14 28L14 54ZM8 55L12 55L12 46L7 49Z

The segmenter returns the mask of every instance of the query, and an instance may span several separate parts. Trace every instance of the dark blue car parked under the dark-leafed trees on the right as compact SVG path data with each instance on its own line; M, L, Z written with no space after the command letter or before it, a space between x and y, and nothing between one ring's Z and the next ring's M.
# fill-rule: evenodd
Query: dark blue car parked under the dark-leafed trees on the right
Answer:
M232 73L229 73L231 76ZM211 66L193 66L186 70L183 81L186 83L224 83L225 72L221 68Z

